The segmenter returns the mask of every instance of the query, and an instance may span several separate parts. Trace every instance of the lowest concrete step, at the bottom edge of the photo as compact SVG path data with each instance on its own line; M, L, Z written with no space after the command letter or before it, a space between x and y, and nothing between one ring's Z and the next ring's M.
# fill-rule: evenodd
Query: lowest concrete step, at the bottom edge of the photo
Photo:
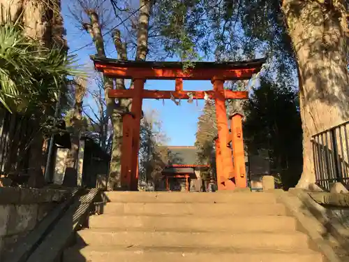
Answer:
M209 249L94 246L70 249L64 254L64 262L322 262L321 254L309 249L294 252L258 249Z

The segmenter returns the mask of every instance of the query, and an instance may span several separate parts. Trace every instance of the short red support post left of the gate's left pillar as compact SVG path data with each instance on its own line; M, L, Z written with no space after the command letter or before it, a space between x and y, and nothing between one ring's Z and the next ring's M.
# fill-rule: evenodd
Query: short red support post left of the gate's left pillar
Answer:
M131 190L131 170L132 158L130 150L132 150L132 122L131 115L122 117L122 145L121 145L121 188Z

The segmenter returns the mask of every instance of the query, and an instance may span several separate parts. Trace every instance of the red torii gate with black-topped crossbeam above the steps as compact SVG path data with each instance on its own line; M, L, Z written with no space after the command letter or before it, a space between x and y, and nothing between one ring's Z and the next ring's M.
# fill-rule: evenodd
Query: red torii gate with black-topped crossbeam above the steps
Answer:
M142 117L143 99L214 99L216 105L216 121L218 129L218 147L220 157L217 159L217 177L220 177L218 190L246 187L246 172L242 170L244 164L239 163L239 170L235 170L232 162L232 151L237 152L237 143L232 143L232 150L227 146L229 142L228 119L225 108L225 99L248 99L248 92L234 92L225 90L225 80L248 80L253 74L258 73L265 59L233 62L195 62L193 68L184 70L181 62L156 62L156 61L124 61L107 59L105 57L91 57L97 71L110 78L133 79L133 89L109 92L111 98L131 98L131 115L124 116L123 145L121 149L121 184L127 189L137 190L138 185L138 151L140 147L140 119ZM144 89L145 80L175 80L174 91L158 91ZM183 80L211 80L214 89L209 91L183 90ZM234 118L235 122L241 117ZM234 132L232 132L234 133ZM242 133L240 135L242 143ZM237 139L232 139L238 141ZM232 142L233 142L232 141ZM243 144L242 144L243 146ZM241 148L241 145L237 147ZM238 160L239 159L239 160ZM218 163L218 161L220 163ZM237 162L241 157L235 158ZM244 180L244 182L239 182ZM236 183L236 184L235 184Z

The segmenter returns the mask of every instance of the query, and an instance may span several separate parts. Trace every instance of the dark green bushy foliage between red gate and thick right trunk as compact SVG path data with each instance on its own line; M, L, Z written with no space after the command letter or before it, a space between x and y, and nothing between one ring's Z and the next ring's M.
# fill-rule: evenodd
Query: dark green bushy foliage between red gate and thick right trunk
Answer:
M302 122L297 92L263 79L244 106L244 139L249 152L268 150L272 173L294 187L302 173Z

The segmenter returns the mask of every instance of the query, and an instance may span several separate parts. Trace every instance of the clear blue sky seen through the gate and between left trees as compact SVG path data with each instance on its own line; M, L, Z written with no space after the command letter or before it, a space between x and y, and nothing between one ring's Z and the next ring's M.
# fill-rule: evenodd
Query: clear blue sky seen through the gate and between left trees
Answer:
M62 5L62 11L64 14L64 23L67 33L66 38L70 52L77 54L80 64L86 64L91 68L92 63L89 59L89 55L95 54L94 45L84 47L84 45L91 43L89 34L79 29L75 18L71 17L65 3ZM82 49L80 50L80 48ZM110 47L107 47L106 53L107 57L115 57L116 55L114 49ZM145 88L174 90L174 81L148 80ZM210 81L184 81L184 90L209 89L212 89ZM85 105L87 103L91 103L89 96L87 96L86 101L84 101ZM198 117L201 115L203 105L204 101L198 101L198 105L196 105L196 101L189 104L186 100L181 101L181 105L175 105L174 102L170 100L165 100L165 105L163 105L163 101L151 99L144 99L143 101L144 110L153 109L158 111L161 122L163 123L163 131L169 138L168 145L194 145Z

